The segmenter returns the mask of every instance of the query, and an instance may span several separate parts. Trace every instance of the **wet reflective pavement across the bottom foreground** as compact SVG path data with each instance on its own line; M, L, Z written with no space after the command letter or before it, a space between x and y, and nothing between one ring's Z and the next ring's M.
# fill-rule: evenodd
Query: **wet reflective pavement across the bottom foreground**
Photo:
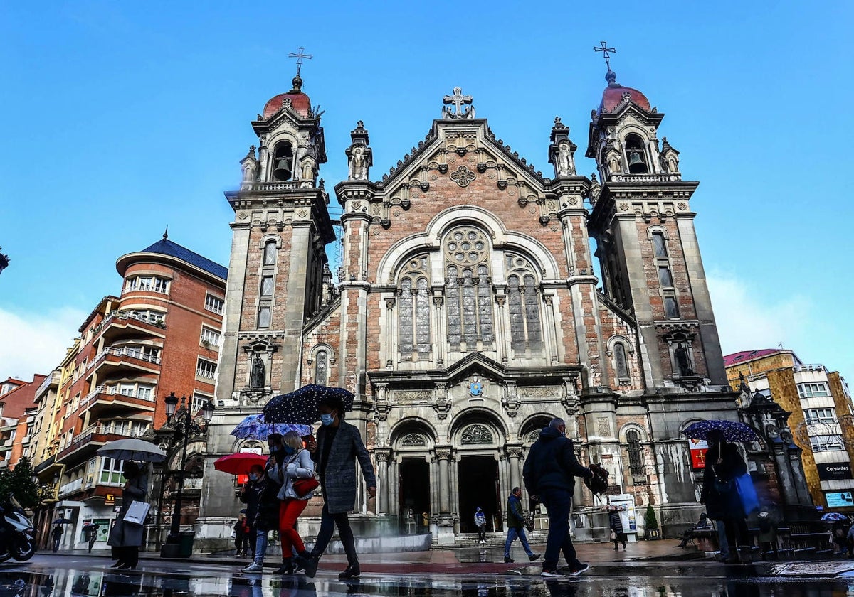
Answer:
M854 597L854 565L804 562L726 566L714 562L603 562L581 577L545 580L539 566L453 574L411 570L364 572L343 582L334 569L313 579L243 574L237 565L146 559L139 570L111 571L108 559L36 555L23 564L0 565L0 597L77 597L139 595L152 597L318 597L389 595L394 597ZM380 564L379 562L377 564Z

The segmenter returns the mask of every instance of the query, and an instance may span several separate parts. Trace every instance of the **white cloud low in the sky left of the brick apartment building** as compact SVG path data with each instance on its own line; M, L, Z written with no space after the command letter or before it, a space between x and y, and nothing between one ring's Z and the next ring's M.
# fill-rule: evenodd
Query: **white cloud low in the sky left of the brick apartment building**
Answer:
M0 380L49 374L66 355L88 313L70 307L46 312L0 308Z

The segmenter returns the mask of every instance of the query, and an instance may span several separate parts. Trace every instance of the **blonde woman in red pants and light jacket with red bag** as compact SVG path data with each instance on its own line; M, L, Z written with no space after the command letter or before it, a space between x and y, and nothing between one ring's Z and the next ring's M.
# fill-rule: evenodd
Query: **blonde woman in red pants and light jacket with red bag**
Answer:
M314 477L314 461L312 455L302 445L302 438L297 432L287 432L282 438L284 454L277 458L277 465L270 472L270 477L276 483L282 484L278 499L282 501L278 511L278 534L282 540L282 567L277 574L293 574L295 571L293 554L303 558L308 557L302 537L296 532L296 519L306 509L312 492L301 496L294 489L294 482L301 478Z

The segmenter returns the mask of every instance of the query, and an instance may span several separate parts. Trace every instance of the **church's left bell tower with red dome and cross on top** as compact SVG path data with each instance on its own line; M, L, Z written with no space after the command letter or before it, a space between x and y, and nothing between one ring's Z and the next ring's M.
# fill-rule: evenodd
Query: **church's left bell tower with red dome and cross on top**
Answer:
M299 67L287 93L252 122L258 137L241 160L240 189L225 194L231 263L219 353L217 399L259 407L299 386L302 329L325 304L327 243L335 240L319 179L326 162L319 110L302 91ZM326 290L325 290L326 288Z

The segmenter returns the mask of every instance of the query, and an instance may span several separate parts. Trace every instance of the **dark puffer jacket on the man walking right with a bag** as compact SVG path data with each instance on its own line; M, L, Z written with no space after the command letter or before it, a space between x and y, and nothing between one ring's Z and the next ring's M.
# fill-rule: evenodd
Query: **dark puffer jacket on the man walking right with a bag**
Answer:
M591 478L593 472L576 460L572 440L557 429L546 427L528 451L522 467L525 490L534 496L543 490L576 490L576 477Z

